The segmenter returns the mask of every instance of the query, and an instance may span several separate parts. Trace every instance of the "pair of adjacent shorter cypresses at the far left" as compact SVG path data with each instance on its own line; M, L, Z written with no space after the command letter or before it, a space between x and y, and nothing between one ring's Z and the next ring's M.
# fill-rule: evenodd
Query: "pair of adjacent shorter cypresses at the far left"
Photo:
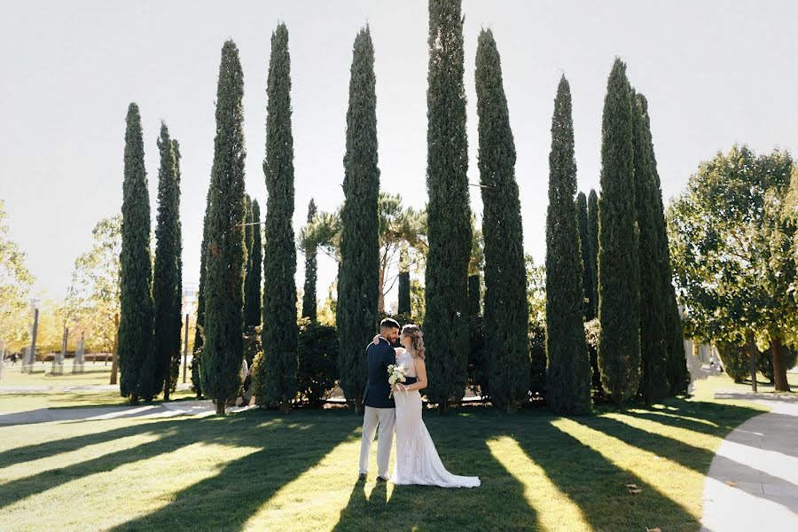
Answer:
M131 404L163 393L168 400L180 366L182 237L180 150L161 122L154 266L150 200L138 106L128 107L125 131L120 271L120 391ZM153 271L154 270L154 271ZM154 281L153 281L154 273Z

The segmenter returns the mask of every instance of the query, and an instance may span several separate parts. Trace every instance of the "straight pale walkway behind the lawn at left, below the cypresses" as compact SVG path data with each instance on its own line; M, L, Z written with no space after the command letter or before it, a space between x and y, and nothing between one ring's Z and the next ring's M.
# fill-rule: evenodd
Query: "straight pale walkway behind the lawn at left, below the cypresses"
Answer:
M246 411L256 406L228 407L229 412ZM51 421L93 421L119 418L205 417L215 414L215 406L207 401L176 401L144 406L95 406L86 408L40 408L33 411L0 412L0 426L48 423Z

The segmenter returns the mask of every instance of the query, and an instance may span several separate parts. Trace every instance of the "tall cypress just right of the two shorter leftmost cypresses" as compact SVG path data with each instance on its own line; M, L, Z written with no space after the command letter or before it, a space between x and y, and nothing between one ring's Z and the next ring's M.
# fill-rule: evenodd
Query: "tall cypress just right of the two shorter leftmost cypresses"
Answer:
M216 90L216 137L211 169L211 208L205 258L205 344L202 347L202 392L213 399L216 413L241 386L244 344L244 73L239 49L224 43Z

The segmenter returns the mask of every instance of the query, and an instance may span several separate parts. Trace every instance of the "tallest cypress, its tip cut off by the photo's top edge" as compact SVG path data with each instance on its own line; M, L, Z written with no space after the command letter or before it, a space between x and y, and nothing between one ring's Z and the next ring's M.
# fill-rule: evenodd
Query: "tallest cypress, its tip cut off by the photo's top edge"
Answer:
M426 396L449 409L468 380L465 316L472 229L463 84L460 0L429 1L426 90L426 190L429 253L424 328L429 384Z

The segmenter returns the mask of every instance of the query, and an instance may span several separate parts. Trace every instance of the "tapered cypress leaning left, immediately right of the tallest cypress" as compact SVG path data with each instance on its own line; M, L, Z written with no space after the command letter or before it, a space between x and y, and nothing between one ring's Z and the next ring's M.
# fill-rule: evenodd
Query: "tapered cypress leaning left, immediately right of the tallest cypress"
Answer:
M484 352L490 361L491 400L497 408L515 411L527 400L529 391L527 270L515 181L515 143L501 60L489 29L483 29L477 41L475 80L484 206Z

